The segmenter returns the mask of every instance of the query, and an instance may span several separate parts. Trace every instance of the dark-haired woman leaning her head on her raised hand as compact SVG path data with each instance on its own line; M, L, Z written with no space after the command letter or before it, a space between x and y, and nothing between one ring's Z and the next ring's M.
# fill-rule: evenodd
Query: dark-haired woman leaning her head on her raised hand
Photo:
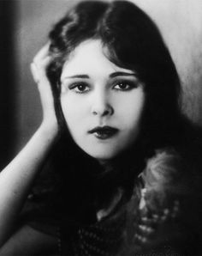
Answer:
M31 70L44 116L0 176L1 255L199 255L199 131L150 18L79 3Z

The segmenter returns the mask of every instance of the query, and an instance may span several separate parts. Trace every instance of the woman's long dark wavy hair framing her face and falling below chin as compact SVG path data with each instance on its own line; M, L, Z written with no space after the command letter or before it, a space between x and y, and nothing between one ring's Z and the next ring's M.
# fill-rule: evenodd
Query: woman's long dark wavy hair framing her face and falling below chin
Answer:
M62 130L57 151L55 150L52 156L56 160L56 169L60 170L62 175L69 176L71 168L80 169L83 180L87 180L86 172L99 168L98 163L95 164L95 160L79 149L69 136L60 103L62 66L75 47L85 40L101 40L107 49L106 57L112 63L134 70L140 80L145 83L146 104L140 136L133 149L128 149L129 160L132 159L132 162L135 162L136 170L133 168L133 171L128 174L129 171L126 172L126 169L129 169L129 161L122 161L122 174L115 176L112 172L111 176L108 175L109 191L119 182L125 182L123 186L130 187L132 191L134 179L128 177L134 177L135 174L140 173L144 167L144 159L154 154L155 149L180 144L182 149L188 147L188 140L193 142L193 136L189 132L192 129L185 128L191 126L187 125L189 122L181 114L180 81L175 64L154 22L134 3L82 1L70 9L50 32L52 62L47 69L54 94L56 116ZM118 167L120 168L120 165ZM85 172L83 172L84 169ZM88 186L80 181L82 180L80 174L73 173L76 182L80 182L80 187L83 186L86 189ZM127 178L125 179L123 175ZM111 185L112 183L114 185ZM106 180L99 184L101 184L100 190L102 191L103 186L105 190L100 194L104 194L107 198L110 192L107 192ZM67 188L66 184L65 187ZM92 195L92 192L90 194ZM76 199L74 201L76 202Z

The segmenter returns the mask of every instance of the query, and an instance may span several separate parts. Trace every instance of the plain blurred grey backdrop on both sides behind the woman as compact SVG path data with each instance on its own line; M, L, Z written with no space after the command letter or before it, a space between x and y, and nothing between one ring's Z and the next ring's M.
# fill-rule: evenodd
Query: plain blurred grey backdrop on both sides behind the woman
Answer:
M183 88L182 109L202 125L202 1L133 0L157 23ZM50 28L74 0L0 0L0 165L27 143L41 121L29 66Z

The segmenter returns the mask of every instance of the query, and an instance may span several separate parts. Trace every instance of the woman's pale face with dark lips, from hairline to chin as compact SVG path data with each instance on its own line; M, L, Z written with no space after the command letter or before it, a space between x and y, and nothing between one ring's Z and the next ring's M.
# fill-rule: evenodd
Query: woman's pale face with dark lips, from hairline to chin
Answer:
M100 161L134 143L145 103L144 85L134 71L104 55L100 40L77 46L62 69L61 105L75 143Z

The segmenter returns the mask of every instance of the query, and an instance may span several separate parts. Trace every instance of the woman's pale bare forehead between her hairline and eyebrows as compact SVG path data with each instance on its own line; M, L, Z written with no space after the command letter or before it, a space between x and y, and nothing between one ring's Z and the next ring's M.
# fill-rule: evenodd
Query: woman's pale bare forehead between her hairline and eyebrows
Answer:
M109 76L116 71L134 73L132 70L123 69L104 54L104 47L100 40L86 40L77 46L68 57L62 68L62 76L86 74L90 76Z

